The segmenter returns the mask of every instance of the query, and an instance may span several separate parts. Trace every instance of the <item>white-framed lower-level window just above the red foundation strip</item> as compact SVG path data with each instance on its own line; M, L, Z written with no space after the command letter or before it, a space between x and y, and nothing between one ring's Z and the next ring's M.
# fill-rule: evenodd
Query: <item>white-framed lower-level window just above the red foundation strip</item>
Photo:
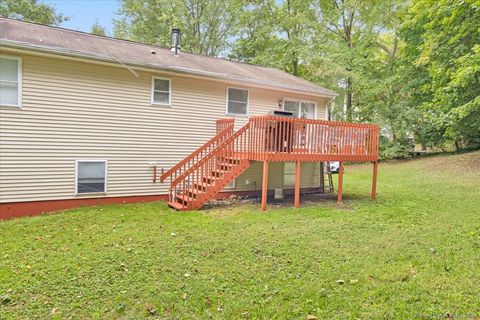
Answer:
M76 167L77 194L107 192L106 160L78 160Z

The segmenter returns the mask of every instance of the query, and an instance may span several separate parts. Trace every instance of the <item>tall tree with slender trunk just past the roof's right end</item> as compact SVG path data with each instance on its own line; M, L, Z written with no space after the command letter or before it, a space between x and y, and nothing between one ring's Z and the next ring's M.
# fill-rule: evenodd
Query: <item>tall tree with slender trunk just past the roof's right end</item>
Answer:
M340 87L345 91L345 113L348 121L354 120L355 79L369 67L379 49L379 37L392 30L398 14L398 2L385 0L329 0L318 1L318 29L316 51L324 53L335 70L343 69ZM396 39L396 38L395 38ZM396 48L396 47L395 47ZM396 49L392 57L396 56ZM393 60L392 60L393 61ZM392 62L393 63L393 62ZM325 64L325 62L323 63Z

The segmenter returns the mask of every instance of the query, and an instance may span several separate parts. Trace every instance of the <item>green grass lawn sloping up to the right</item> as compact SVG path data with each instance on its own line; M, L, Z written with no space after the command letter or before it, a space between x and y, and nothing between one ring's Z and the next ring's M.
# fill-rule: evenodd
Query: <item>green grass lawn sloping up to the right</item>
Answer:
M345 203L0 222L0 318L480 317L480 152L347 166ZM312 317L313 318L313 317Z

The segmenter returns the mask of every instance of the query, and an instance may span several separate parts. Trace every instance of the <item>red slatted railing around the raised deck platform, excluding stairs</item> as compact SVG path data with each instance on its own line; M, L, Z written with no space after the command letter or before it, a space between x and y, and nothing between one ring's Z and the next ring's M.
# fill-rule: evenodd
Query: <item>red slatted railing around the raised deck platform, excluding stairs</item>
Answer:
M377 125L278 116L252 116L249 123L250 160L378 160Z

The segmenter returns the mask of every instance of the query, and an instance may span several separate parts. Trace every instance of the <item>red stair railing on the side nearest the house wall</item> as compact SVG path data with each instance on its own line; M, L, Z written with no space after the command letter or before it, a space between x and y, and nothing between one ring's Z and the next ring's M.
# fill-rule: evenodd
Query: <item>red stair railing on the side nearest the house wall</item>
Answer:
M228 120L230 120L230 121L228 121ZM229 123L226 123L227 121ZM233 128L234 128L234 125L235 125L234 119L222 119L222 121L220 123L221 123L221 127L224 128L224 129L221 129L220 132L218 132L219 131L219 129L218 129L219 128L219 121L217 121L217 132L218 133L212 139L205 142L202 146L200 146L193 153L191 153L186 158L179 161L176 165L174 165L173 167L171 167L170 169L165 171L160 176L160 182L164 182L168 177L172 176L174 173L176 173L178 170L180 170L182 167L184 167L187 163L189 163L196 156L200 155L207 148L209 148L209 147L211 147L212 145L215 145L215 144L217 144L217 146L218 146L218 144L220 144L226 137L228 137L229 135L231 135L233 133ZM213 150L214 149L215 149L215 147L213 148ZM211 150L210 152L212 152L213 150ZM205 157L207 154L203 155L203 157ZM193 163L192 165L194 165L194 164L195 163ZM188 169L185 169L185 170L188 170ZM181 176L181 175L182 175L182 173L177 174L178 177Z

